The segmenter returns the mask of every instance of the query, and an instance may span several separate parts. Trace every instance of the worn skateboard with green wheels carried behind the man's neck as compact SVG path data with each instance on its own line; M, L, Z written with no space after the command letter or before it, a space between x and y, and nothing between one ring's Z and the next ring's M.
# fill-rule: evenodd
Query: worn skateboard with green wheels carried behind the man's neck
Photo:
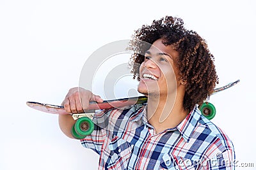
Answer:
M239 81L240 80L237 80L232 83L228 83L227 85L220 87L218 89L214 89L212 95L217 94L218 92L226 90L230 87L233 87L234 85L239 83ZM209 103L209 99L210 99L210 96L207 97L204 103L200 104L198 108L201 111L202 115L204 115L204 117L211 120L216 115L216 108L212 103ZM56 106L52 104L37 103L32 101L28 101L26 104L35 110L44 111L46 113L53 113L53 114L59 114L59 115L72 115L74 120L76 120L76 123L72 127L72 135L76 139L83 139L86 136L90 135L94 130L94 124L92 122L92 118L95 114L95 110L120 108L123 106L132 106L134 104L143 104L143 103L147 103L146 96L114 99L114 100L103 101L103 103L90 102L88 110L84 111L85 113L67 113L63 106Z

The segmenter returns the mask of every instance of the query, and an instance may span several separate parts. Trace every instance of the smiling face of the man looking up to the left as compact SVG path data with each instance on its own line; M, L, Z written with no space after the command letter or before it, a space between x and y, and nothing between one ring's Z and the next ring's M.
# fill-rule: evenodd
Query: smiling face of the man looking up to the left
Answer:
M176 93L178 69L175 60L179 53L171 45L165 46L162 39L157 39L145 52L145 60L140 66L141 94L159 96Z

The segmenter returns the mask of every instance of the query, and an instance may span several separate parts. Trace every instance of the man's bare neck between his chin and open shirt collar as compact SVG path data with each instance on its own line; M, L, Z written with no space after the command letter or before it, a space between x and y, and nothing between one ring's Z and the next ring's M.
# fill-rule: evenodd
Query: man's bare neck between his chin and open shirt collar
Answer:
M148 95L147 118L157 133L177 127L186 118L188 112L184 110L183 97L178 94Z

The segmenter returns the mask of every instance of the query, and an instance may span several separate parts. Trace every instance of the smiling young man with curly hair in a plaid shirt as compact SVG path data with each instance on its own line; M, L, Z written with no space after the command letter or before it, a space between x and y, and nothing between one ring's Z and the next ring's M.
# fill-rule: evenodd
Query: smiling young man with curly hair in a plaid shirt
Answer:
M81 143L99 153L99 169L234 169L232 142L196 106L218 83L204 39L186 30L180 18L165 17L136 31L130 48L138 52L132 55L138 92L148 101L95 115L95 122L107 115L108 123L95 124ZM80 113L90 101L102 99L73 88L63 106ZM70 115L60 115L61 131L70 138L74 123Z

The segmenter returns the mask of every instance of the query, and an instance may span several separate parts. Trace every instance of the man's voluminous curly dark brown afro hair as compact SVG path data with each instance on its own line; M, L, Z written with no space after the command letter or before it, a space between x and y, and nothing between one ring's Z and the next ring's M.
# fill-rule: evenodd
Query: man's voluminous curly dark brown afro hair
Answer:
M184 109L191 111L195 104L202 104L210 96L218 83L218 76L214 66L214 56L209 52L207 43L195 31L184 28L181 18L164 17L154 20L152 25L143 25L135 31L129 44L134 50L131 57L134 78L140 80L140 64L149 45L157 39L162 39L164 45L172 45L179 52L175 65L179 69L181 80L186 80L184 95Z

